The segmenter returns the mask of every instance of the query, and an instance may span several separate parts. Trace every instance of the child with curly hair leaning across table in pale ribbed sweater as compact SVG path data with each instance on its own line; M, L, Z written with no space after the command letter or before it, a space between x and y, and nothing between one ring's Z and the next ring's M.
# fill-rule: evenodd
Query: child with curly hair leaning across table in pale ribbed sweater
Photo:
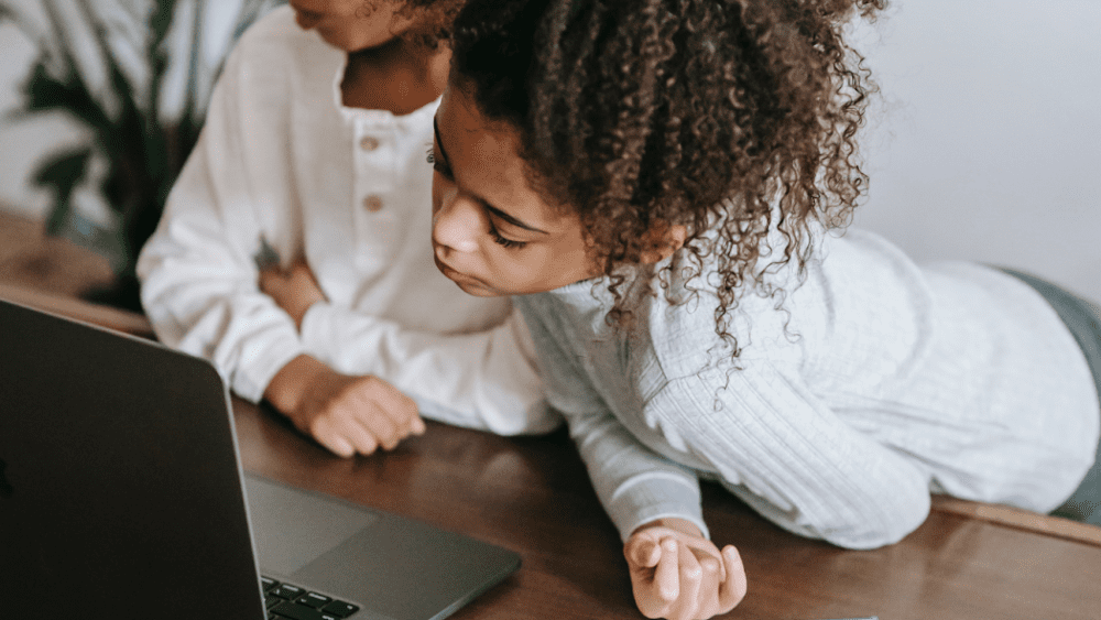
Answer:
M840 233L870 90L841 26L882 4L470 0L456 21L436 262L516 295L646 616L745 592L698 478L871 548L930 492L1048 512L1094 461L1084 302Z

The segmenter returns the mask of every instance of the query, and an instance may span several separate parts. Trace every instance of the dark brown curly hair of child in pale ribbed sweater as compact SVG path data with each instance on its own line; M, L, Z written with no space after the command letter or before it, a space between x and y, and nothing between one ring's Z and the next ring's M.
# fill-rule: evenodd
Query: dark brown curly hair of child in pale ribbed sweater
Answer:
M802 278L816 222L847 225L866 186L855 137L874 87L842 28L884 4L470 0L451 81L519 131L533 188L576 210L611 276L613 323L631 323L624 272L659 243L653 231L684 225L676 269L717 270L716 330L737 356L740 296L780 307L768 268L794 260ZM771 229L785 250L759 264Z

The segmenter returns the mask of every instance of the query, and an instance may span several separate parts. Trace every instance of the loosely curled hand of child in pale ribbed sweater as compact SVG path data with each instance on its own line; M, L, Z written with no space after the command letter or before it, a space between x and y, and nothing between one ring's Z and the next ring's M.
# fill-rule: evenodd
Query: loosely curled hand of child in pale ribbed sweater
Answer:
M647 618L697 620L724 613L745 596L745 568L683 519L642 525L623 546L634 600Z

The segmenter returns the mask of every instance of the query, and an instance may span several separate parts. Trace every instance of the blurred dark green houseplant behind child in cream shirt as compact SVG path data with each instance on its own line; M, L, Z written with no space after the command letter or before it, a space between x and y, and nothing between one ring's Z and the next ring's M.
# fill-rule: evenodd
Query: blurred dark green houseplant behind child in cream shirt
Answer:
M238 2L232 37L277 3ZM217 73L200 53L209 7L204 0L40 0L37 9L0 0L0 20L18 25L39 52L23 84L22 108L9 120L64 113L89 135L84 144L47 155L31 175L31 183L51 195L46 232L110 260L113 284L87 292L88 298L140 311L138 253L198 138ZM171 46L178 41L173 37L183 37L184 45ZM182 70L185 84L182 101L166 111L171 106L162 95L172 70ZM83 218L75 208L78 192L97 194L110 222Z

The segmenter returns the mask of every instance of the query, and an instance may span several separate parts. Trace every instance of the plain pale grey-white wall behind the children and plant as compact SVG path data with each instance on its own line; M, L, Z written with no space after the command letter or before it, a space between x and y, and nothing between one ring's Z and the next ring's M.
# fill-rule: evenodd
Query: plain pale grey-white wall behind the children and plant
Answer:
M1101 300L1099 33L1097 0L895 0L854 26L882 90L857 225L919 261L1016 267ZM10 110L33 50L10 26L0 48ZM28 171L75 140L62 119L0 129L0 203L41 216Z

